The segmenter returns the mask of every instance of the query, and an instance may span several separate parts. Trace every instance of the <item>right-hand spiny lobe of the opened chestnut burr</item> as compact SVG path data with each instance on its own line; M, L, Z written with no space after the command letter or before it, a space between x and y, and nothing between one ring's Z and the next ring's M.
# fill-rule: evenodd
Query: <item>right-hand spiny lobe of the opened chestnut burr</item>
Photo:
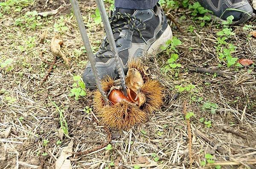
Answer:
M149 80L145 82L141 91L146 95L146 102L142 109L151 114L159 110L163 104L163 86L157 80Z

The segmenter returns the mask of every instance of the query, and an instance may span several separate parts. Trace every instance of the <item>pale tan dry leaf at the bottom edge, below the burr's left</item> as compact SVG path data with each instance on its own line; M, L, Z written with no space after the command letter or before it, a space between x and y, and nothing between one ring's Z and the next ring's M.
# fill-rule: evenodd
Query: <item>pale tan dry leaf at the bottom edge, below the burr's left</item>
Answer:
M67 160L67 158L72 156L73 145L74 145L74 142L72 139L68 144L68 146L65 146L62 149L61 155L58 157L57 161L55 162L55 169L72 169L71 161Z

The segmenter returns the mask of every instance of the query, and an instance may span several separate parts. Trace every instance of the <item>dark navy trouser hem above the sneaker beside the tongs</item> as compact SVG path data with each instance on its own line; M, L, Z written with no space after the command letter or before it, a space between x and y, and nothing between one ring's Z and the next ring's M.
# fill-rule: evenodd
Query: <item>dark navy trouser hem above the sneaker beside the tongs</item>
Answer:
M115 0L115 7L144 10L153 8L157 2L158 0Z

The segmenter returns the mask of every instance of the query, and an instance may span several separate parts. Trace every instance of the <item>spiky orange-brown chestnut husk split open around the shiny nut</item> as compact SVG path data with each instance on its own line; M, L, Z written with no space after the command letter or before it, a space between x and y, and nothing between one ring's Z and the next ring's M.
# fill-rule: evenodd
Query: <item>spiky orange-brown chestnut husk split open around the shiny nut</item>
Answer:
M140 108L128 101L121 101L109 106L103 101L99 91L96 91L93 99L94 110L99 115L102 124L112 129L128 130L135 124L144 122L149 114L159 110L163 104L162 85L157 80L148 79L140 62L132 61L128 67L136 68L141 73L145 82L141 91L146 95L146 102ZM102 80L102 89L106 93L112 86L114 86L114 81L110 77Z

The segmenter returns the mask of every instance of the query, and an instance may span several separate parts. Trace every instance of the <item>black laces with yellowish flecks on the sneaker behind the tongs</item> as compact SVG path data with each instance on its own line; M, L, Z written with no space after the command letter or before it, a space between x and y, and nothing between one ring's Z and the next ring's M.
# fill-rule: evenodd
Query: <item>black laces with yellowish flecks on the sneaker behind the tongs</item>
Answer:
M124 20L124 22L117 23L119 20ZM136 21L138 21L139 24L141 23L143 25L143 27L138 28L139 24L136 25ZM147 43L141 34L141 32L146 29L146 25L140 18L137 18L131 14L116 12L116 14L112 15L109 18L109 23L111 25L113 34L121 33L121 31L124 29L131 29L132 31L135 30L135 31L138 31L140 38L143 39L143 41L145 43ZM120 38L121 38L120 36L114 38L115 42ZM116 43L116 47L121 47L121 46L122 46L121 44ZM99 58L110 57L111 58L112 57L111 55L107 55L107 56L102 55L106 51L112 51L109 46L109 42L108 42L107 38L103 39L103 43L100 46L100 50L99 50L98 54L96 54L96 57L99 57Z

